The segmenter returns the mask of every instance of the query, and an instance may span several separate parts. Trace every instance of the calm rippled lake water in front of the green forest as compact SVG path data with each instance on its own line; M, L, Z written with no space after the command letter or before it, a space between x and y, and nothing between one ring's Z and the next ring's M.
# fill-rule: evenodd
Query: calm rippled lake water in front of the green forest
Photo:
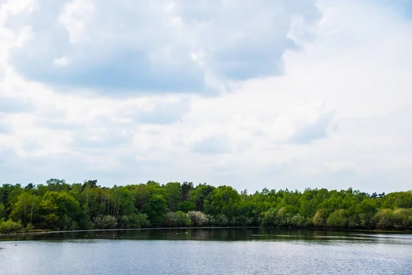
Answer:
M156 229L0 236L0 274L412 274L411 234Z

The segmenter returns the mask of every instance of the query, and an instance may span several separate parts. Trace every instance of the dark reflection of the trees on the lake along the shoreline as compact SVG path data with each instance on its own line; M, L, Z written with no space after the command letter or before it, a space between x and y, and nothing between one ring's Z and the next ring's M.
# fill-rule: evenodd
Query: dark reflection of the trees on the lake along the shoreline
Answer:
M282 230L262 228L157 228L142 230L85 230L3 235L0 241L27 240L192 240L192 241L317 241L378 242L412 245L411 234L370 234L321 230ZM1 245L0 245L1 246Z

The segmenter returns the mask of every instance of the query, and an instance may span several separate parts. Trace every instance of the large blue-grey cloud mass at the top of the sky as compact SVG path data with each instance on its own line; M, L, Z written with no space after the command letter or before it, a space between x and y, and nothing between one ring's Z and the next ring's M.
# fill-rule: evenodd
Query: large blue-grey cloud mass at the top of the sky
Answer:
M226 80L282 74L282 55L298 48L292 19L319 19L312 0L49 2L9 14L9 30L33 32L11 64L31 80L111 96L209 94Z

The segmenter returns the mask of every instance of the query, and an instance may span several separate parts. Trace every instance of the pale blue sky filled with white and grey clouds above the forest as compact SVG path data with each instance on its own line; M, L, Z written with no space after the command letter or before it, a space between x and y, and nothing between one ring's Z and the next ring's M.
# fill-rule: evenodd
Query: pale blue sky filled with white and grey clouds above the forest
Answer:
M410 0L0 0L0 184L411 190L411 49Z

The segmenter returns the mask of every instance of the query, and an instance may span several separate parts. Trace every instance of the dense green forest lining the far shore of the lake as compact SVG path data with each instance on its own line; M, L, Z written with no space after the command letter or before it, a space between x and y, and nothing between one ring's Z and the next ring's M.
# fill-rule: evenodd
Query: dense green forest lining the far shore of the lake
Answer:
M159 226L411 230L412 192L264 188L248 194L191 182L107 188L63 179L0 187L0 233Z

